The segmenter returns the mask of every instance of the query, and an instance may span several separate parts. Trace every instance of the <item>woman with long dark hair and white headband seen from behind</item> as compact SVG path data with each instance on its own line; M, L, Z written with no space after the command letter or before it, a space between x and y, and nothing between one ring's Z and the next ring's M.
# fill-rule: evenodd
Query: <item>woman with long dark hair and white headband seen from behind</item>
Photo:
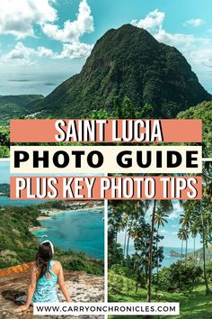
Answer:
M33 303L59 302L57 282L66 298L66 302L71 302L64 281L62 265L59 261L52 260L53 256L54 246L52 242L42 242L37 252L35 263L31 268L31 283L26 303L15 309L16 313L27 310Z

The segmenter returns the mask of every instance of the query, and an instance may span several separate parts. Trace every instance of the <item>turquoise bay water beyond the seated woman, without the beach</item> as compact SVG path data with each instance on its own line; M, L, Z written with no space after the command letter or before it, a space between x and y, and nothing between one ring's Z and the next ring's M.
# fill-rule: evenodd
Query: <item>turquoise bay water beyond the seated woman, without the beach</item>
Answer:
M83 251L88 257L104 259L104 221L102 214L88 211L66 212L52 215L56 219L42 220L44 229L34 232L36 236L53 242L61 249Z

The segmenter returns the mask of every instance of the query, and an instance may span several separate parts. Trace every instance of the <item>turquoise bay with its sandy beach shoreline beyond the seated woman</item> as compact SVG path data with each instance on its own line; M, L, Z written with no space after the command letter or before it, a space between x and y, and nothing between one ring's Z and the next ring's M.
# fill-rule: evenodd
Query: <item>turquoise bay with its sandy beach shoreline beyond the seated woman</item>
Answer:
M61 250L67 251L71 249L74 252L84 252L89 260L103 260L103 237L101 235L102 232L100 231L104 229L102 228L104 227L102 221L103 208L103 205L93 207L86 205L84 207L77 207L77 209L49 209L46 211L48 213L47 216L40 216L40 226L31 227L30 231L39 242L49 239ZM75 212L77 213L74 214ZM41 211L41 213L44 212ZM85 219L88 222L86 222ZM44 220L44 222L42 222L42 220ZM73 232L71 233L70 226L67 226L67 221L74 221L72 226ZM83 226L82 222L84 222ZM81 234L82 227L84 227L84 233ZM64 231L62 231L62 229L64 229ZM58 232L61 232L60 235L62 235L62 241L60 235L56 233L57 230ZM90 230L93 230L93 232L96 233L96 237L95 235L93 236L93 232L90 232ZM89 233L91 233L91 236ZM97 244L93 243L93 241L96 241Z

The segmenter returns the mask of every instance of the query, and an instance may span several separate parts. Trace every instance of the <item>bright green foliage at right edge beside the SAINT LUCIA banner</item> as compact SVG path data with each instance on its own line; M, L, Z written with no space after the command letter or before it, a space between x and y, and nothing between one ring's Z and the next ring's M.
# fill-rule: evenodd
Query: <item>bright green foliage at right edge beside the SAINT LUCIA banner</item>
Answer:
M177 117L180 119L202 120L203 157L212 158L212 102L203 102L197 106L190 107L189 110L181 112Z

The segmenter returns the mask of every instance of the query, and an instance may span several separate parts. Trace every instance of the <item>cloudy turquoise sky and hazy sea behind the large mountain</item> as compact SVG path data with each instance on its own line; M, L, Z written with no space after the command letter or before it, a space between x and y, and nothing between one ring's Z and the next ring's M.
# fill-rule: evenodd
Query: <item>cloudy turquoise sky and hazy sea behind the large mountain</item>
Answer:
M211 0L1 1L0 95L48 95L81 70L104 32L125 23L181 50L212 93L211 11Z

